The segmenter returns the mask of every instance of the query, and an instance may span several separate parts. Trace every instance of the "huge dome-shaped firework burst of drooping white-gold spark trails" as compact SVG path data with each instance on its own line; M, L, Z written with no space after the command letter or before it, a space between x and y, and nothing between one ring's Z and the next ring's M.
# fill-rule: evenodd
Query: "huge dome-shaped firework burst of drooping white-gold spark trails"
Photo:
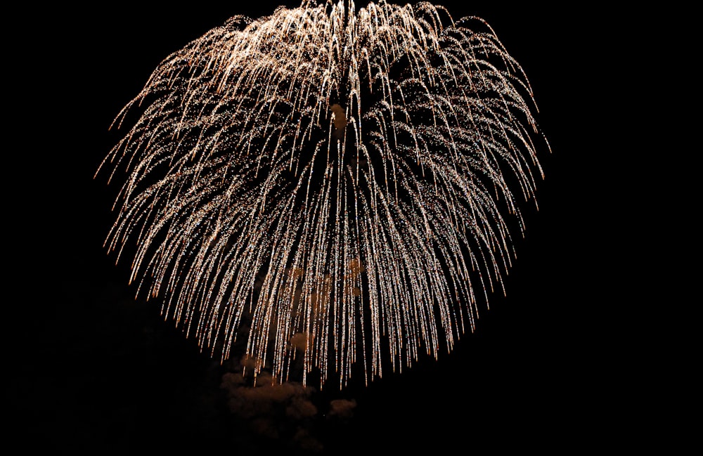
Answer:
M548 149L491 27L428 3L235 16L115 125L137 107L101 165L127 174L106 246L136 245L137 293L200 346L224 360L246 337L279 382L299 353L303 382L341 387L451 351L503 288L514 190L534 199Z

